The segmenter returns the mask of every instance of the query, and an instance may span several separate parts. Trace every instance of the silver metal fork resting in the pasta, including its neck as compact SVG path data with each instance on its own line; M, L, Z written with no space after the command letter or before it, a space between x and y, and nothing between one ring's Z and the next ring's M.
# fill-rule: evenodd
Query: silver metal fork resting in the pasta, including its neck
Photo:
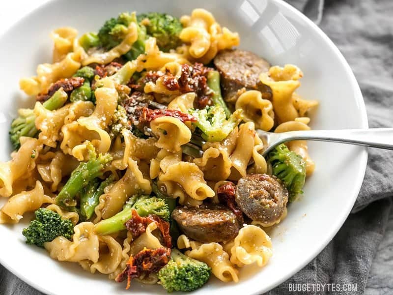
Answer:
M316 140L393 150L393 128L306 130L283 133L266 132L258 129L256 133L266 147L263 150L263 156L266 156L278 145L293 140Z

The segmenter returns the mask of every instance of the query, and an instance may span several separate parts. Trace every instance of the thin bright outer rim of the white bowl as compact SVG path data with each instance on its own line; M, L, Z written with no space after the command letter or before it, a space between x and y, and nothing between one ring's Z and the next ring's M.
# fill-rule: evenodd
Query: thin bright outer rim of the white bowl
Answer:
M3 37L3 35L5 33L14 29L15 27L19 26L26 18L39 12L40 10L45 9L48 5L54 5L54 3L56 3L57 1L62 1L62 0L46 0L45 2L38 4L35 8L33 8L29 12L25 13L18 20L13 22L10 26L7 26L6 29L1 29L0 30L0 39ZM313 23L306 15L304 15L301 11L296 9L294 6L292 6L288 2L286 2L284 0L267 0L267 1L271 1L275 4L277 4L278 6L284 7L284 9L289 10L293 15L295 15L297 18L299 18L303 22L305 22L309 27L311 27L311 29L316 31L318 33L318 35L323 38L323 40L326 42L326 44L335 53L338 60L343 65L346 75L349 77L350 87L355 92L354 97L355 97L355 100L359 106L359 111L360 111L360 116L361 116L361 125L362 125L361 127L367 129L368 128L368 119L367 119L367 113L366 113L366 109L365 109L365 101L363 98L362 91L359 87L359 84L356 80L356 77L355 77L351 67L349 66L348 62L346 61L346 59L344 58L342 53L339 51L337 46L334 44L334 42L326 35L326 33L322 29L320 29L315 23ZM269 290L274 289L275 287L277 287L278 285L280 285L281 283L285 282L287 279L292 277L295 273L297 273L299 270L301 270L307 264L309 264L309 262L312 261L319 253L321 253L321 251L328 245L328 243L336 236L337 232L340 230L340 228L344 224L345 220L347 219L348 215L350 214L352 207L355 204L355 201L359 195L359 192L360 192L363 180L364 180L365 170L367 167L368 148L361 147L361 149L359 150L359 153L361 156L361 160L359 161L359 162L361 162L360 163L361 167L358 171L356 182L354 183L354 190L353 191L356 192L356 194L354 194L352 196L353 200L350 203L351 206L348 206L347 209L345 211L343 211L341 218L334 224L334 226L332 225L330 227L330 232L329 232L329 234L326 235L326 238L325 238L324 242L320 245L320 247L315 248L314 251L310 251L307 255L307 259L305 259L297 267L294 267L291 272L280 277L279 280L276 280L276 281L272 282L271 284L267 284L264 288L265 289L264 292L268 292ZM53 293L53 292L47 290L45 287L42 287L42 286L36 284L34 281L29 279L27 276L20 274L16 267L13 267L13 266L7 264L1 258L1 256L0 256L0 264L2 266L4 266L8 271L10 271L12 274L17 276L21 280L23 280L25 283L27 283L29 286L33 287L34 289L36 289L42 293L48 294L48 295L56 295L56 293ZM251 295L259 295L261 290L262 289L256 290L255 292L252 292L250 294Z

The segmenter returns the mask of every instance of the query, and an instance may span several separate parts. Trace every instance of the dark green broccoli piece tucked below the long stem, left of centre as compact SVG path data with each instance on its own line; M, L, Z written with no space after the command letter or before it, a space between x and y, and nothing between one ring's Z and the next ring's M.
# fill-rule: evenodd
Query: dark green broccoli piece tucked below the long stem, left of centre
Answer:
M86 220L90 219L94 213L95 207L99 203L99 198L104 194L104 189L114 181L114 177L111 175L104 181L99 181L98 178L89 182L84 187L81 194L81 214Z

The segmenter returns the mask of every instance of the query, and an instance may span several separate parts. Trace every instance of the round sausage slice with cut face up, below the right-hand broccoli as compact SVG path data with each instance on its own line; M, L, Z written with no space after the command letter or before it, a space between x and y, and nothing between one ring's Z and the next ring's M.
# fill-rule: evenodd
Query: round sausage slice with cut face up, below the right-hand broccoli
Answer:
M251 219L272 224L281 219L288 191L281 180L267 174L250 174L239 179L236 204Z

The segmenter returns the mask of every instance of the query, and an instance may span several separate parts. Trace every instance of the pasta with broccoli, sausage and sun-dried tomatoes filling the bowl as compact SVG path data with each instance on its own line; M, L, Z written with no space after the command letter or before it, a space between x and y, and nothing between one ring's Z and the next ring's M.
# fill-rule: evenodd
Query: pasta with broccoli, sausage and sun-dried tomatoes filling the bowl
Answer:
M0 223L34 211L27 243L126 288L193 291L265 266L263 228L285 218L314 163L304 141L264 158L255 129L309 129L318 103L294 92L301 70L234 49L239 35L204 9L51 36L53 63L20 81L36 103L10 127Z

